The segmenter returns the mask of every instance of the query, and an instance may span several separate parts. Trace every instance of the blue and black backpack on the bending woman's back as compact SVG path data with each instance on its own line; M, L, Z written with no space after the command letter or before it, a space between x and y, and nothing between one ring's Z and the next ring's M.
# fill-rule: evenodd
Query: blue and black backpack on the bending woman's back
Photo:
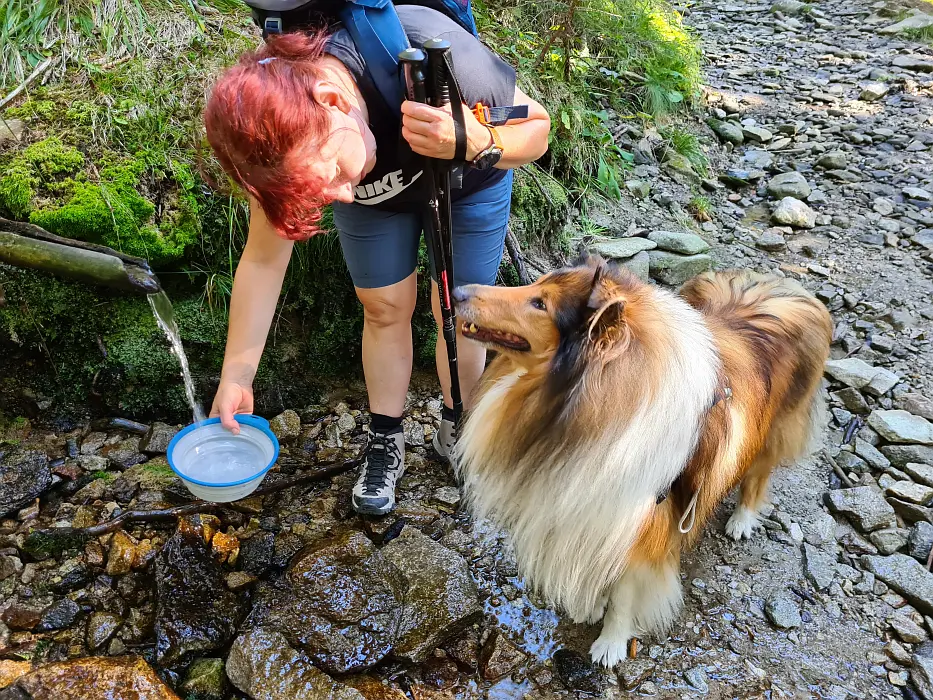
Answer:
M390 107L404 99L398 55L410 48L395 5L421 5L441 12L479 37L470 0L243 0L253 21L269 34L321 27L340 21L366 62L376 89ZM392 110L393 113L395 110Z

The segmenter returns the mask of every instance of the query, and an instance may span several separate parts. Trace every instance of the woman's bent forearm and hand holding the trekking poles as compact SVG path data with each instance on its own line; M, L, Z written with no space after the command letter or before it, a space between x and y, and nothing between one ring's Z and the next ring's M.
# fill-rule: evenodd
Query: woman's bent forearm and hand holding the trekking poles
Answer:
M509 170L537 160L547 151L551 118L547 110L515 86L512 104L528 105L528 116L510 119L504 126L497 126L502 141L502 158L496 164L501 170ZM477 121L469 107L464 106L467 131L467 161L492 144L489 129ZM419 102L402 103L402 136L415 153L429 158L449 160L454 157L454 122L450 107L438 109Z

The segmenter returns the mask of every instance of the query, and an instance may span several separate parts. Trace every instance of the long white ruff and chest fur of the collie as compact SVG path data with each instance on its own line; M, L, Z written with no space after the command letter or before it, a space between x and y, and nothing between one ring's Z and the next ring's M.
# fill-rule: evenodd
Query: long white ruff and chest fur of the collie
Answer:
M591 442L517 469L495 449L514 431L504 398L522 381L516 371L487 390L458 441L458 468L474 513L511 532L529 584L580 621L601 614L658 492L693 453L718 384L719 358L700 314L664 290L656 294L670 332L659 359L663 379L650 402L631 415L605 406L607 429L591 426Z

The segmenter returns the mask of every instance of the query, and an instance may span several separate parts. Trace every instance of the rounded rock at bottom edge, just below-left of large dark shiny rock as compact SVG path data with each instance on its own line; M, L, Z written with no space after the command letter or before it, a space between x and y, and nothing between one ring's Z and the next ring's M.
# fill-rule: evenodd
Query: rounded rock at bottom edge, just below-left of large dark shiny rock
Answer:
M315 668L284 635L264 627L237 637L226 671L230 682L253 700L364 700Z

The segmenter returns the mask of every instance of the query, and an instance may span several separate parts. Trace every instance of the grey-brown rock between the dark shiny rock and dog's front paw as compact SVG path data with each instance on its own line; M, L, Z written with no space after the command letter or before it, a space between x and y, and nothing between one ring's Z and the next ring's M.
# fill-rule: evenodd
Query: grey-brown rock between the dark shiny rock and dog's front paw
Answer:
M407 584L393 654L420 663L480 614L479 593L466 561L413 527L382 549Z

